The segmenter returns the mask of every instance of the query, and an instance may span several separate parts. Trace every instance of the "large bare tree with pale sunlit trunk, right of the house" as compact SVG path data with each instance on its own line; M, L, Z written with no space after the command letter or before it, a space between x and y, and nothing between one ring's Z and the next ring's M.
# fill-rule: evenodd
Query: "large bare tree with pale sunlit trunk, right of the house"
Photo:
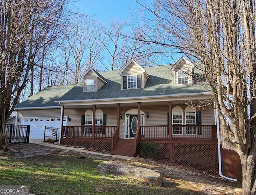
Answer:
M137 1L138 2L138 1ZM221 122L222 141L238 153L243 190L256 193L255 0L154 0L140 4L134 37L155 52L202 62ZM145 14L147 12L147 14ZM162 49L162 51L161 51Z

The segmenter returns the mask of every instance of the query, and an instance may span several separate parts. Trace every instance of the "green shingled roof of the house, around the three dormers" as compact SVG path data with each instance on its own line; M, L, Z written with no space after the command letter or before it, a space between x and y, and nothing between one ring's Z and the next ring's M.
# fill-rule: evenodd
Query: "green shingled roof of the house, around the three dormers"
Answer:
M106 71L99 75L107 82L97 92L83 92L83 82L76 85L52 86L29 97L16 108L24 107L49 107L57 106L54 101L74 101L88 99L114 99L126 97L147 97L147 96L168 96L178 94L195 94L209 92L209 86L206 82L199 82L193 85L174 86L172 77L172 66L151 66L144 68L150 77L144 88L121 90L121 78L118 72ZM201 72L195 70L198 75Z

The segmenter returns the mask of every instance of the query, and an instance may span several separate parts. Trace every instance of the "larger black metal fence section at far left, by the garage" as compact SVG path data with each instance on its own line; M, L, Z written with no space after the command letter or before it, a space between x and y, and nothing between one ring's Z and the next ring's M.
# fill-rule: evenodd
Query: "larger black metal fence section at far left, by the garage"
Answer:
M29 143L30 125L6 124L5 141L8 143Z

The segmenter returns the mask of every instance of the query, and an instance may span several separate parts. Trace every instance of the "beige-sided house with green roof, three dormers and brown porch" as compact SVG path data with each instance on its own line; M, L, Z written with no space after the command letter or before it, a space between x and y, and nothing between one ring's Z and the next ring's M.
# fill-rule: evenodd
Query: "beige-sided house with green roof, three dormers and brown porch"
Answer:
M156 158L218 173L216 115L202 70L182 57L174 65L122 70L89 68L83 82L52 86L16 106L30 138L60 127L60 142L135 156L142 143L158 145ZM193 105L193 106L191 106Z

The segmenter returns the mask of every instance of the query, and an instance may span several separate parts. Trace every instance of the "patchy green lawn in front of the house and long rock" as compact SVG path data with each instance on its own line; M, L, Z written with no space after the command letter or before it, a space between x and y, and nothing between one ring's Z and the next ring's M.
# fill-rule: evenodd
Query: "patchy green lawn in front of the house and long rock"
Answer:
M0 185L28 185L36 195L190 195L202 194L182 181L169 181L163 187L147 185L125 176L97 171L101 159L79 159L77 153L54 153L27 159L0 158Z

